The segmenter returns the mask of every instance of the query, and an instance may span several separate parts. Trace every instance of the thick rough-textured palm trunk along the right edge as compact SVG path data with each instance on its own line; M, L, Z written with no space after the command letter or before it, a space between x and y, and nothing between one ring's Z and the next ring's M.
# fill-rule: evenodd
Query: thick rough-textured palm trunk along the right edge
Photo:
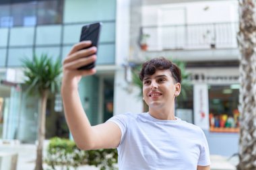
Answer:
M238 170L256 169L256 15L255 0L239 1L238 46L241 114Z

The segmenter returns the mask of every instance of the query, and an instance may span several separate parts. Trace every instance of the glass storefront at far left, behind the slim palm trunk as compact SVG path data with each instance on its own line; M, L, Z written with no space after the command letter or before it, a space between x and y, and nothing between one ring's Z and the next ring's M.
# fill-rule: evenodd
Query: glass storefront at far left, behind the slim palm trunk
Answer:
M0 77L0 140L34 143L38 133L38 95L28 95L18 69L7 69ZM46 105L46 138L68 137L60 95L49 95Z

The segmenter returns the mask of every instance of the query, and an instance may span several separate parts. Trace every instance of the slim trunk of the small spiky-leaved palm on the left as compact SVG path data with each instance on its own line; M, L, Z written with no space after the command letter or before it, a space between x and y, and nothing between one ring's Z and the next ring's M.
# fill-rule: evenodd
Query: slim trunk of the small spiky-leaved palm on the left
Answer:
M38 146L36 153L36 168L35 170L42 170L42 151L45 138L45 115L46 115L46 102L48 98L48 91L42 92L40 101L40 114L39 114L39 128L38 128Z

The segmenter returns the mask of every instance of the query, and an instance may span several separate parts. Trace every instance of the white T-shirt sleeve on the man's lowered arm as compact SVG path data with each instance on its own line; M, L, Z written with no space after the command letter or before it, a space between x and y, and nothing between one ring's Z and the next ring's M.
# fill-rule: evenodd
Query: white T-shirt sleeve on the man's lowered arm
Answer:
M211 164L210 161L210 151L209 146L205 137L203 130L201 130L201 147L200 147L200 156L197 165L207 166Z

